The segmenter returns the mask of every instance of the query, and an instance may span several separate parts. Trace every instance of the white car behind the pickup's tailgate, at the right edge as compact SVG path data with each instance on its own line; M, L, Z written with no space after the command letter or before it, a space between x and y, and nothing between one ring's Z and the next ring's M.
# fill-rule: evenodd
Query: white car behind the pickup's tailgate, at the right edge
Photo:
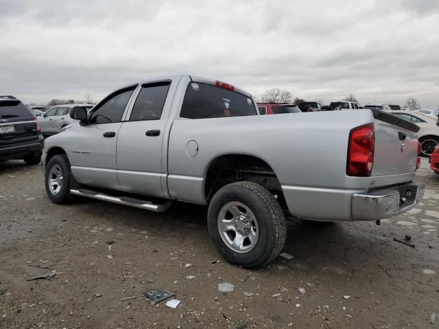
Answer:
M392 111L392 114L401 117L420 127L417 133L420 149L423 156L431 156L434 149L439 145L438 119L429 114L415 111Z

